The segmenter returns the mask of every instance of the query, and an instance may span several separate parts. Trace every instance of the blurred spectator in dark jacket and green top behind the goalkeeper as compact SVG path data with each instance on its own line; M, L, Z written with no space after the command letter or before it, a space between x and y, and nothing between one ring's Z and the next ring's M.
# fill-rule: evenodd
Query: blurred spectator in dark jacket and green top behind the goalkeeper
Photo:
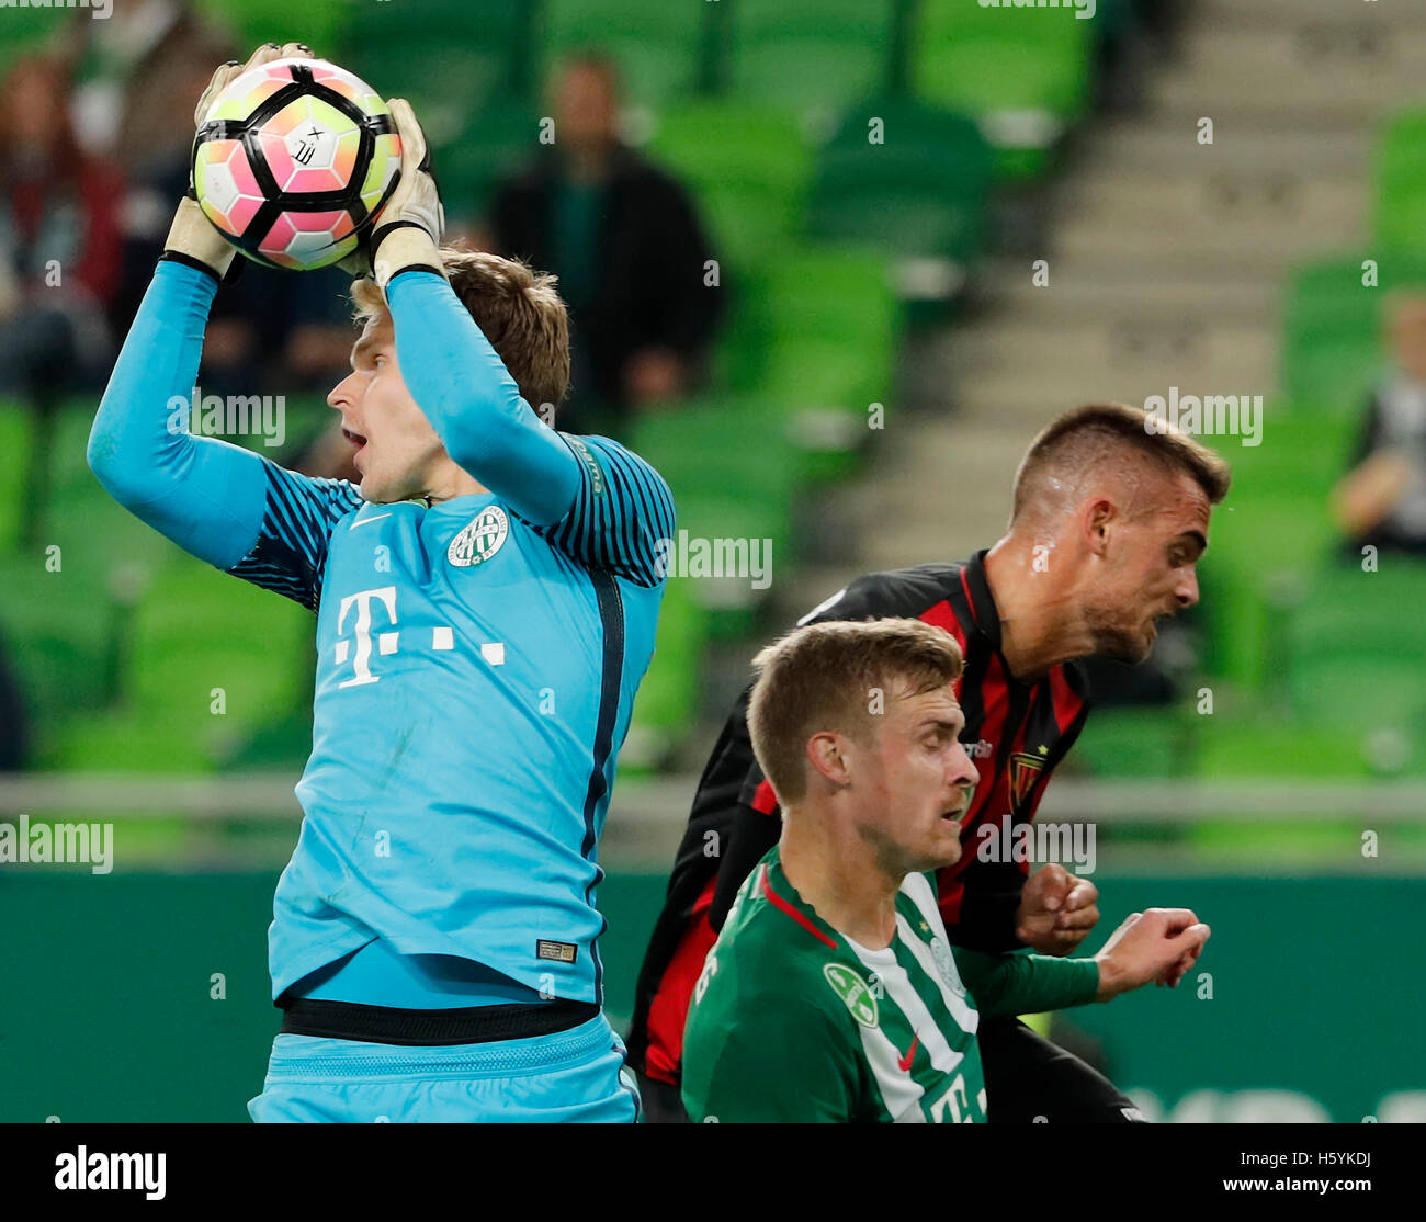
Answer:
M566 60L552 88L555 143L496 190L488 235L498 254L559 277L573 348L560 428L616 436L633 411L697 382L720 312L693 204L620 141L619 106L610 60Z

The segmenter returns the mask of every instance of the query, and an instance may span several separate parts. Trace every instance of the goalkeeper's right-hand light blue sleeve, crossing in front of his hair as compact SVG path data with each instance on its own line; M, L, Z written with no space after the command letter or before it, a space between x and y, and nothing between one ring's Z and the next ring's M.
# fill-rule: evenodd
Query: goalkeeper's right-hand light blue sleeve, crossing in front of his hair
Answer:
M386 297L406 389L452 461L566 555L659 585L674 526L659 473L607 438L548 428L442 277L404 272Z

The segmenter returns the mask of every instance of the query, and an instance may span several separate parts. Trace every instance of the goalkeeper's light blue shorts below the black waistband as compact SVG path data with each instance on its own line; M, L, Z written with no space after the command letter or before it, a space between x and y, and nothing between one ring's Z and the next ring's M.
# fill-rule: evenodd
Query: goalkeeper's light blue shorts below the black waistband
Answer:
M639 1092L603 1014L559 1031L481 1044L399 1045L278 1035L258 1124L632 1124Z

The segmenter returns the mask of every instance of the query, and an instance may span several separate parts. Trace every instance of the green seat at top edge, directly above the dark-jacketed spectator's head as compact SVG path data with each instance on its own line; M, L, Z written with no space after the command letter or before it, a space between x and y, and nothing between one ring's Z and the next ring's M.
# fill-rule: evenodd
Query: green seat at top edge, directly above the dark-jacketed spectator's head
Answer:
M600 51L620 67L625 96L659 108L692 97L704 81L707 23L714 6L647 0L548 0L545 74L569 53Z

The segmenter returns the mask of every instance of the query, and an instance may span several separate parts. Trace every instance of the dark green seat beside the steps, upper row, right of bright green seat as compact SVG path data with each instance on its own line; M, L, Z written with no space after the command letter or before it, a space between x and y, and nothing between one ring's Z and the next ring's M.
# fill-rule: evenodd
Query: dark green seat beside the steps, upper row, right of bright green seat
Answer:
M950 297L984 247L990 184L990 147L971 120L884 98L847 114L821 151L807 230L935 261L931 288L907 295Z

